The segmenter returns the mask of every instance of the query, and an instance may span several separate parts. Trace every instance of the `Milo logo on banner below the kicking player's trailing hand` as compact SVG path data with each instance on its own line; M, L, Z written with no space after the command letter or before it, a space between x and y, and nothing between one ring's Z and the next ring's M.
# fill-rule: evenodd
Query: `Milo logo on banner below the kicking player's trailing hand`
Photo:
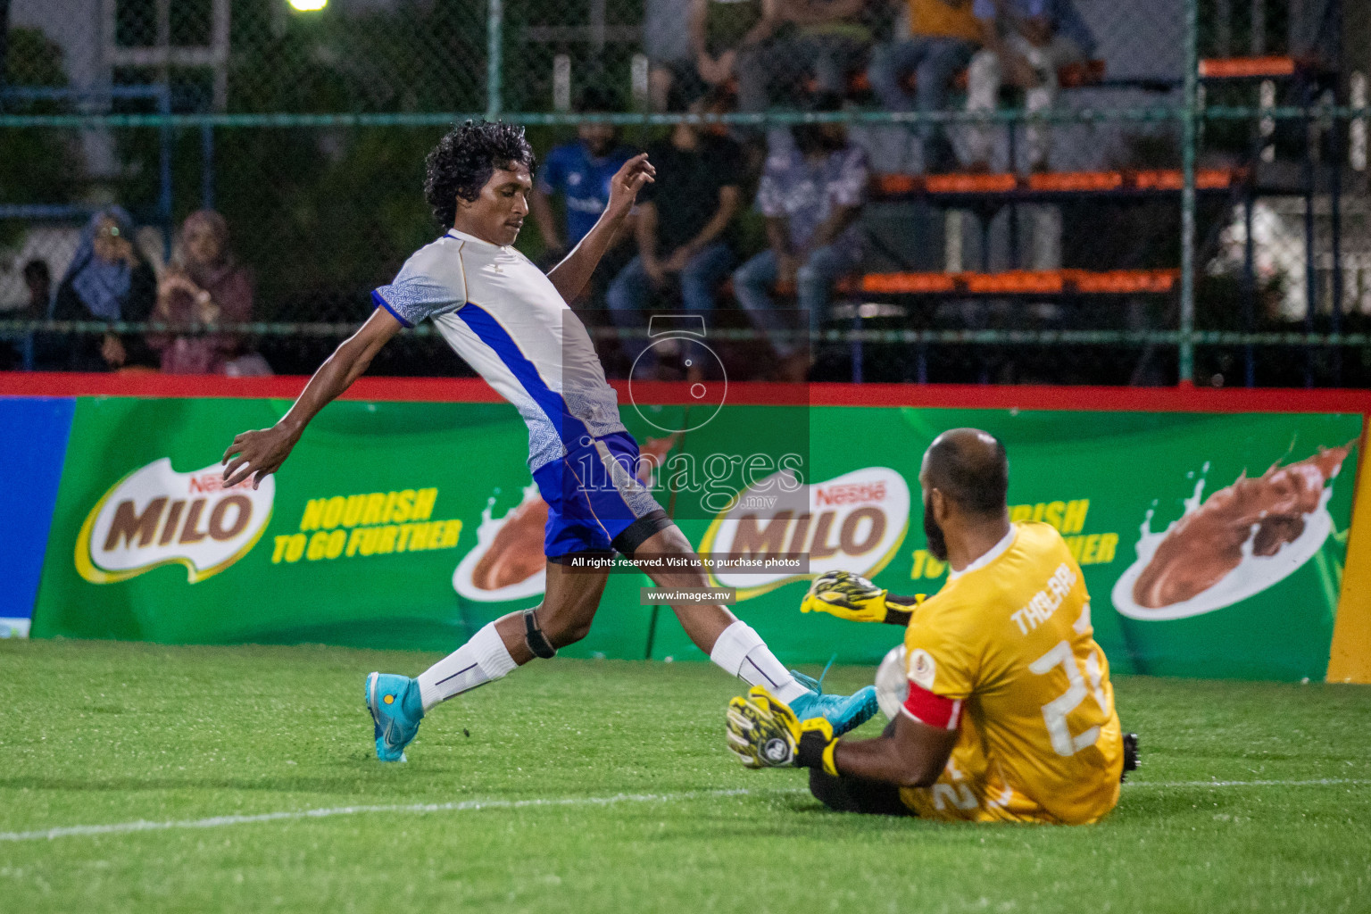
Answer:
M75 565L92 584L125 581L169 562L195 584L248 554L271 518L274 477L223 488L222 467L177 473L170 458L134 470L104 493L77 536Z

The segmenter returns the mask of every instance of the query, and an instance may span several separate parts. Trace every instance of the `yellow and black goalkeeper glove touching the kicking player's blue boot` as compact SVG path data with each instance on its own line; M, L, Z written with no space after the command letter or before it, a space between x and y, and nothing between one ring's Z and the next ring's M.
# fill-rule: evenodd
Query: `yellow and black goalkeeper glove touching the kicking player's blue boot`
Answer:
M754 685L728 703L728 748L746 767L821 767L836 776L834 725L799 721L784 702Z

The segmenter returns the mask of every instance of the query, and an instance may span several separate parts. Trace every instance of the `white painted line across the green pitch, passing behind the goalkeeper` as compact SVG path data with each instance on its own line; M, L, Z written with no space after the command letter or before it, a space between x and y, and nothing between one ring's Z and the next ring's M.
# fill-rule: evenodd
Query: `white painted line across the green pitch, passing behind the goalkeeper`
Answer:
M1128 788L1230 788L1230 787L1338 787L1371 785L1371 780L1319 778L1312 781L1126 781ZM809 791L687 791L681 793L614 793L613 796L565 796L532 800L461 800L454 803L391 803L384 806L332 806L293 813L258 813L255 815L213 815L203 819L173 819L166 822L112 822L110 825L63 825L36 832L0 832L0 841L37 841L58 837L85 837L95 835L128 835L130 832L166 832L170 829L222 828L226 825L252 825L255 822L287 822L296 819L321 819L335 815L359 815L362 813L468 813L478 810L524 810L562 806L614 806L617 803L680 803L686 800L718 799L725 796L787 795Z

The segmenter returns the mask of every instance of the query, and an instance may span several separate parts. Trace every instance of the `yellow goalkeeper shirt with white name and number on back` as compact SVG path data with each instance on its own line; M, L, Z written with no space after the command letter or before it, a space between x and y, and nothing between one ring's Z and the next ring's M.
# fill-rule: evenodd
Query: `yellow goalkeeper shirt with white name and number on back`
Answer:
M1012 525L951 576L905 633L905 713L917 719L919 696L954 702L960 736L938 782L905 788L905 804L925 818L1063 824L1112 810L1123 740L1093 634L1080 566L1047 523Z

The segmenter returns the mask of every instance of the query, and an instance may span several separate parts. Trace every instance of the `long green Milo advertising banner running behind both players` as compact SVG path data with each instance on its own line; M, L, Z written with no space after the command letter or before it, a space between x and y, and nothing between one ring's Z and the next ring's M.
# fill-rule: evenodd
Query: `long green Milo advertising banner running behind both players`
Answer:
M80 397L32 634L446 651L542 599L547 504L509 406L339 402L277 477L225 489L233 434L287 407ZM1327 667L1357 414L624 414L648 456L639 478L701 552L808 556L808 571L712 581L786 662L875 663L899 641L890 626L802 615L801 596L831 569L936 592L947 567L924 543L919 463L939 432L972 425L1008 447L1012 519L1065 537L1116 669L1293 680ZM765 444L746 473L712 460L751 441ZM705 659L668 607L640 604L647 584L610 574L591 636L565 654Z

